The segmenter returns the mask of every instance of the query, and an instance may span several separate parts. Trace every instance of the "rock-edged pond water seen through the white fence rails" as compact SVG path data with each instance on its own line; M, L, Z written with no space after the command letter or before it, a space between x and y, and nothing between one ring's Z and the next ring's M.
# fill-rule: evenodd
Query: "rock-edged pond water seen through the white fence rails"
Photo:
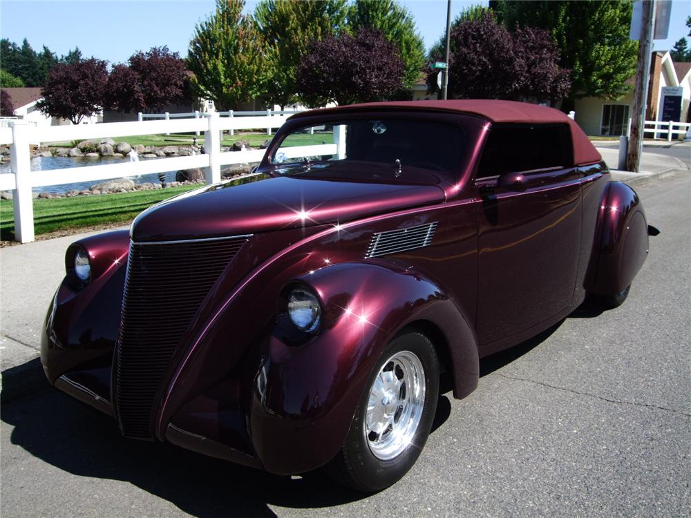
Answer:
M142 159L142 160L155 160ZM129 162L129 157L101 157L99 160L89 158L70 158L70 157L35 157L31 159L31 171L52 171L53 169L67 169L68 167L86 167L97 166L104 164L120 164L122 162ZM11 173L10 164L3 164L0 166L0 173ZM168 171L166 173L167 182L174 182L177 171ZM135 184L143 184L151 182L153 184L160 184L158 180L158 173L151 173L148 175L125 176L123 178L131 178ZM115 180L113 178L113 180ZM84 191L89 189L92 185L107 182L108 180L90 180L88 182L79 182L74 184L59 184L47 185L44 187L34 187L33 191L36 193L60 193L64 194L68 191Z

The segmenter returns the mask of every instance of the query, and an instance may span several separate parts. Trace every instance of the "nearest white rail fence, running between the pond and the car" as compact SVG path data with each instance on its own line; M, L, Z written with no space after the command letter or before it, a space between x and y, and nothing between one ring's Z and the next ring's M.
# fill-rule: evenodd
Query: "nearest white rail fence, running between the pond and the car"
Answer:
M279 128L287 117L265 115L263 117L223 117L218 113L203 114L194 119L164 119L149 122L110 122L88 126L30 126L22 120L8 121L8 128L0 127L0 144L10 145L11 173L0 174L0 191L13 191L15 209L15 239L26 243L33 241L34 211L32 187L71 184L76 182L102 181L125 176L164 173L178 169L204 168L207 184L220 182L220 168L229 164L259 162L265 150L221 151L222 132L253 128ZM127 137L132 135L156 135L161 133L204 132L204 154L185 157L169 157L140 162L122 162L50 171L31 171L30 142L64 142L70 140L97 139L102 137ZM296 146L285 148L287 156L337 154L345 148L344 135L334 131L333 144Z

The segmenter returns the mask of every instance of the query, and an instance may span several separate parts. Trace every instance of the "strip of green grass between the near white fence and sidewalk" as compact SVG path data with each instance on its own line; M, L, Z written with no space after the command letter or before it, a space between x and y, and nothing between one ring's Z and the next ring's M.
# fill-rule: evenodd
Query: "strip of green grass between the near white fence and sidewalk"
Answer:
M91 227L98 224L131 221L138 213L176 194L196 189L196 186L171 187L156 191L99 194L34 200L34 229L40 234ZM15 239L15 218L12 201L0 201L0 238Z

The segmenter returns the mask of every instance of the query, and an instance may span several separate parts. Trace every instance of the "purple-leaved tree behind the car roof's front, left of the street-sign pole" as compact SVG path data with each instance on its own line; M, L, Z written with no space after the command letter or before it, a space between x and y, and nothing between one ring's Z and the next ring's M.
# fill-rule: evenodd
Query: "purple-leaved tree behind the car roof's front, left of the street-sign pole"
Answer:
M403 86L404 64L379 33L359 30L313 41L296 68L299 95L309 106L379 101Z

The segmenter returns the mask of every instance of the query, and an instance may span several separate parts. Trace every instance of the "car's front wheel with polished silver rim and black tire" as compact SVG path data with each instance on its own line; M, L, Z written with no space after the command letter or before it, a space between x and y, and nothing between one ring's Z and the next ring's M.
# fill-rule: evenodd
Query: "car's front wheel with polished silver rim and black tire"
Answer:
M328 473L357 490L399 481L419 457L439 398L439 360L429 338L391 340L370 374L341 450Z

